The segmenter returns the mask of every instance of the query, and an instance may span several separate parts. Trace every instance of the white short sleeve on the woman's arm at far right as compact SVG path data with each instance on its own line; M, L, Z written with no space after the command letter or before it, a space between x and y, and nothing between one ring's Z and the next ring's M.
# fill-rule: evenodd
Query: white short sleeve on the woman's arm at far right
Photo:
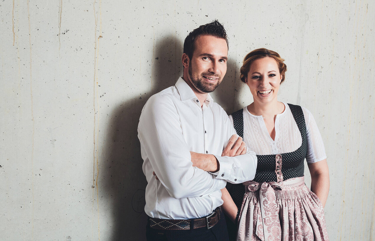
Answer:
M315 163L327 158L324 149L323 139L320 135L317 123L314 120L311 112L302 107L303 115L305 116L306 132L307 132L307 154L306 161L308 163Z

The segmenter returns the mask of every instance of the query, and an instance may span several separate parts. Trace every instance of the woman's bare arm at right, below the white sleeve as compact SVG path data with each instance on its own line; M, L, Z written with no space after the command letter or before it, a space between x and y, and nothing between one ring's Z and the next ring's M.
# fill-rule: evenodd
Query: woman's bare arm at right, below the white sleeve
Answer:
M308 163L311 174L311 191L319 197L323 204L326 205L329 191L329 170L327 159L316 163Z

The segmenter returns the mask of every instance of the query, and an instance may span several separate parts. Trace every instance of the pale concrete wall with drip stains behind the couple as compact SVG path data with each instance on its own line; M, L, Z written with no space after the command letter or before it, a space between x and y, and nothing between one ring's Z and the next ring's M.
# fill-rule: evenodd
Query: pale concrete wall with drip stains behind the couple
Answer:
M214 99L250 104L243 57L278 51L279 100L307 107L326 146L330 240L375 240L374 16L369 0L1 1L0 239L145 239L141 108L217 18L229 61Z

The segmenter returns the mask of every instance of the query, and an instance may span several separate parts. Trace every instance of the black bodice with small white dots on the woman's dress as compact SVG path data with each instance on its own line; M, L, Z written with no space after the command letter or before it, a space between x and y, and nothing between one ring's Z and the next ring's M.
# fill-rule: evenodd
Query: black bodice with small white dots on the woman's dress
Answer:
M299 105L288 105L300 130L302 145L293 152L257 155L257 172L253 180L255 182L282 182L304 175L304 161L307 152L305 117ZM243 109L234 112L232 117L237 134L243 137ZM237 207L241 206L243 194L245 194L245 186L242 184L228 184L227 189Z

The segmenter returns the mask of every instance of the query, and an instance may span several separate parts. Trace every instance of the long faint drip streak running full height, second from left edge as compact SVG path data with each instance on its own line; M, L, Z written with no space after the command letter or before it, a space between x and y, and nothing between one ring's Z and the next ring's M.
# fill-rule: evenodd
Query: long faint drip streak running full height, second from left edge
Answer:
M34 131L35 131L35 121L33 113L33 78L31 75L31 26L30 26L30 9L29 0L27 0L27 18L28 18L28 41L30 47L30 97L31 97L31 120L33 121L33 134L31 136L31 194L32 194L32 217L31 217L31 239L34 240Z

